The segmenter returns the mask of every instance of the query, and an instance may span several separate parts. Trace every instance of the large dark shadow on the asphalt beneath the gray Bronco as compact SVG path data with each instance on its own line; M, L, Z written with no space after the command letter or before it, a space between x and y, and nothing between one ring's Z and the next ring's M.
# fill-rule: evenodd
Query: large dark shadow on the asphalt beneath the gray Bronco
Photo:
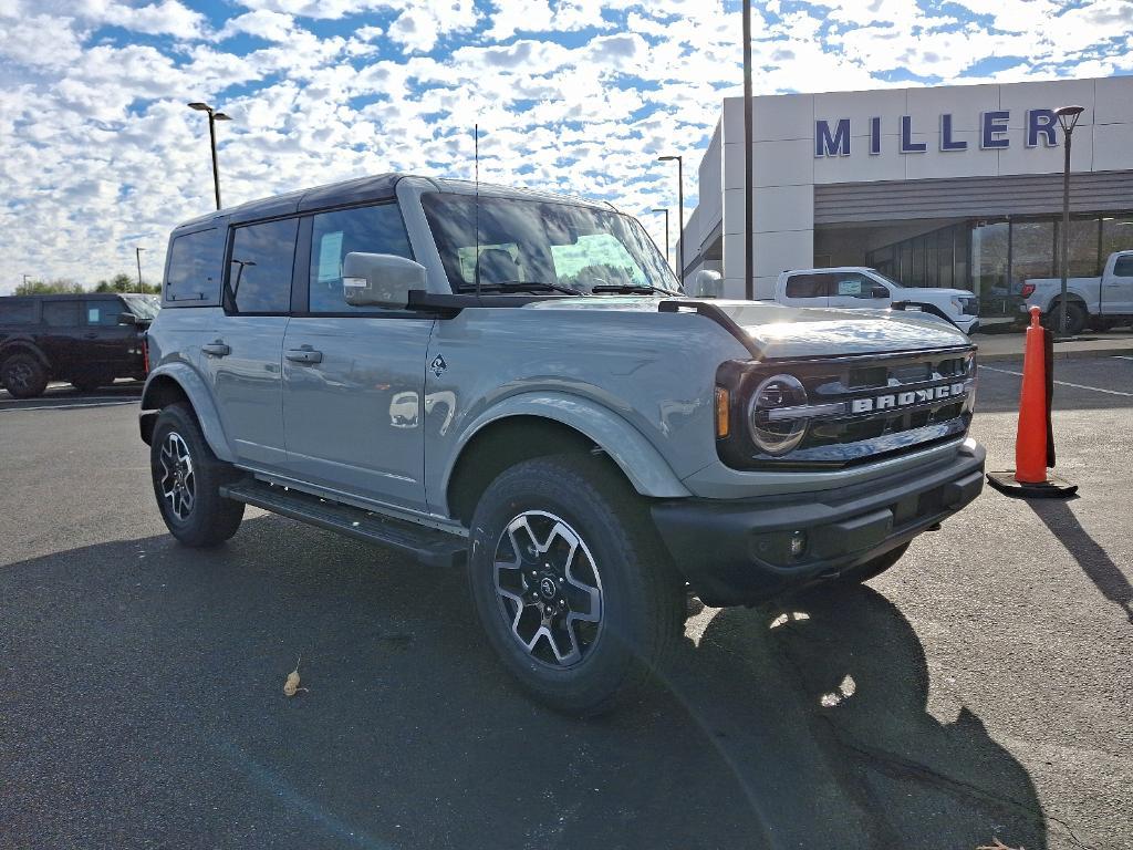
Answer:
M868 587L708 610L589 722L517 690L461 573L276 517L9 564L0 598L3 847L1046 847Z

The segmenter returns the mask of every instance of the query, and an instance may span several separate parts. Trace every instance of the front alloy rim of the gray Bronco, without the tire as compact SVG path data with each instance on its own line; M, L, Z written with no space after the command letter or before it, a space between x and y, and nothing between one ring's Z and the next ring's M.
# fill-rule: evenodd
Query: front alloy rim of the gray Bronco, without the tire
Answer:
M554 668L582 662L602 634L602 577L582 536L545 511L525 511L496 543L500 612L512 637Z

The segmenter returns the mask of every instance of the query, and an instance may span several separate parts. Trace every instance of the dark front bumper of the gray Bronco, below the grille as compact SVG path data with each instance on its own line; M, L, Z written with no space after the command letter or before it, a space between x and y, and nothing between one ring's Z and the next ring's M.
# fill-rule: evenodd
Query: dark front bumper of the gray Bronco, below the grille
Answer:
M969 504L983 488L983 447L863 484L743 500L651 507L657 532L705 604L748 605L877 558ZM803 551L792 554L802 538Z

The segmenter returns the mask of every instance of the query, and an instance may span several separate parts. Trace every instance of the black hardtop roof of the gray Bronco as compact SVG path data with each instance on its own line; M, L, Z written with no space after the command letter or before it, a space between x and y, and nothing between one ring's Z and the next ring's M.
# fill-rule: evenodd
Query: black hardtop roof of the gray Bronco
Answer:
M190 221L186 221L177 227L177 230L201 230L218 219L225 219L228 222L238 224L245 221L257 221L259 219L271 219L276 215L293 215L297 212L323 210L331 206L344 204L360 204L367 201L384 201L394 197L398 181L406 177L419 177L428 180L437 190L449 189L455 192L471 190L474 184L470 180L453 180L448 178L431 178L420 175L409 175L391 172L386 175L374 175L372 177L358 177L352 180L326 184L307 189L298 189L274 197L249 201L239 206L218 210L206 215L201 215ZM572 201L587 206L599 209L613 209L604 202L588 201L568 195L556 195L533 189L517 189L511 186L499 184L479 184L482 193L495 196L505 195L511 197L526 197L543 201Z

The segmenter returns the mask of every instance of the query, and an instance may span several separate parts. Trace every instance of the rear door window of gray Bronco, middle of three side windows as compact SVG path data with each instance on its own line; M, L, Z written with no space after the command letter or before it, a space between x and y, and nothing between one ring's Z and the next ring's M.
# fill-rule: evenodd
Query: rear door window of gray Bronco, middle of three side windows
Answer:
M298 219L237 228L228 266L228 289L237 313L291 309L291 270Z

